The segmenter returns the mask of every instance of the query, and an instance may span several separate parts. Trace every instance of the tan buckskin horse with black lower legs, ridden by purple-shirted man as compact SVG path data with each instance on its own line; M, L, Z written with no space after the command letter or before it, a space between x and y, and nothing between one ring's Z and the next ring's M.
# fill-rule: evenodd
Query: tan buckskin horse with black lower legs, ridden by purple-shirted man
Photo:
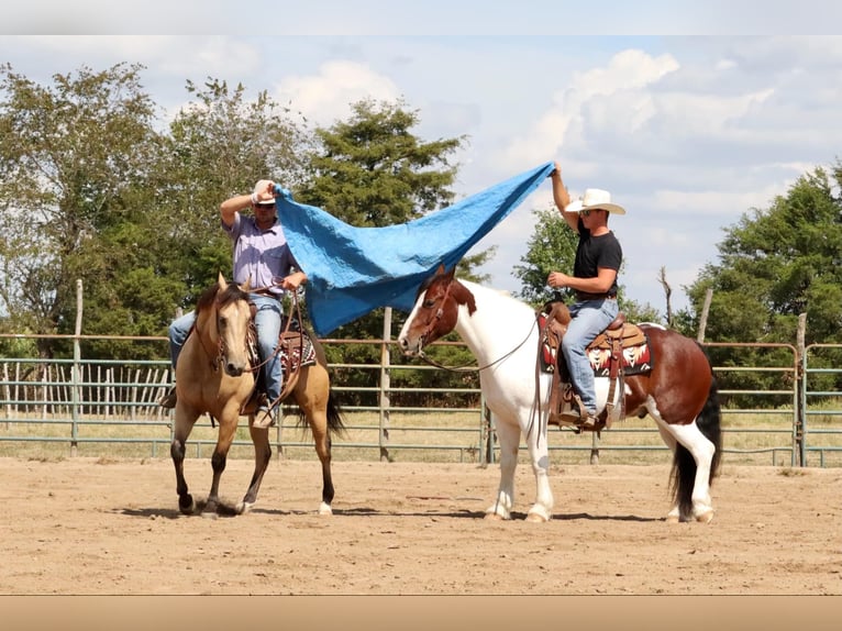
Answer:
M187 439L202 413L219 422L217 446L211 456L213 481L211 483L203 516L215 516L220 508L219 484L231 443L234 440L239 418L248 413L248 431L254 443L254 474L243 500L237 503L237 514L248 512L257 500L263 475L266 473L272 447L268 428L254 427L255 406L250 405L255 389L256 356L250 348L254 335L252 306L248 287L241 288L225 283L220 274L215 285L199 298L196 307L196 324L188 335L176 364L175 436L170 455L176 467L178 507L185 514L196 510L196 503L187 488L184 461ZM312 337L312 336L311 336ZM291 390L299 407L299 417L306 418L315 441L315 452L322 464L321 514L330 514L333 501L331 477L331 435L344 429L339 406L331 392L324 353L312 339L317 361L300 367ZM293 376L295 377L295 376ZM292 378L287 375L287 378Z

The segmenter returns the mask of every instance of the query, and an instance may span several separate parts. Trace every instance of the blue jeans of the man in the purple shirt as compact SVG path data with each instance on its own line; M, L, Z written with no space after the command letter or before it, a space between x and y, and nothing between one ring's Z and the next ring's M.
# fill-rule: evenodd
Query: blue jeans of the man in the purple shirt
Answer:
M266 362L267 357L272 357L261 368L261 374L266 385L266 396L269 398L269 402L272 402L280 397L280 388L284 384L280 357L275 355L275 348L278 346L278 337L280 336L280 320L284 311L280 301L275 298L261 296L259 294L250 294L248 299L257 307L254 324L257 329L257 353L261 362ZM174 369L193 322L196 322L196 312L190 311L174 320L169 325L169 356Z

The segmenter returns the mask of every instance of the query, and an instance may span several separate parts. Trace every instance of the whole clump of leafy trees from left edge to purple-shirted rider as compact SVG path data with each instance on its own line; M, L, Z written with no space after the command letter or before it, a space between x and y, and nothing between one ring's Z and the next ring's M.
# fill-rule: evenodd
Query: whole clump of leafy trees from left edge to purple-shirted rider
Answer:
M71 333L81 279L85 333L164 334L177 307L230 276L220 202L262 178L302 179L310 135L265 92L188 82L193 100L159 132L141 69L82 67L45 87L0 68L7 328ZM85 346L88 357L137 353L119 340ZM68 352L41 343L46 356Z

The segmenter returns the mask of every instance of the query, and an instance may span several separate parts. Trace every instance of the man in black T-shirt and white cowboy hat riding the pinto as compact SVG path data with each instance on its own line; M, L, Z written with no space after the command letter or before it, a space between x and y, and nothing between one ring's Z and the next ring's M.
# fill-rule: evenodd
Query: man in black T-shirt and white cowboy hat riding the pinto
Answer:
M554 289L569 287L576 292L576 302L569 307L573 320L562 340L562 353L578 397L578 420L594 427L597 398L594 370L585 350L619 313L617 273L623 253L614 233L608 230L608 215L625 214L625 210L611 203L611 195L607 190L597 188L586 189L581 200L570 202L557 162L550 175L555 206L567 225L578 233L579 243L573 276L551 272L546 283Z

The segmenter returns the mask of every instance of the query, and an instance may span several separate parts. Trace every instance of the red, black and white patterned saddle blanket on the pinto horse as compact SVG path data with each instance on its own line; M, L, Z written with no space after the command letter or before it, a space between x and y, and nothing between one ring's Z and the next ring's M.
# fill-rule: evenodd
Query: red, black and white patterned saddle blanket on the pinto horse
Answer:
M562 368L566 374L564 356L561 353L562 332L553 333L552 322L547 322L547 313L543 311L538 314L539 326L545 333L541 336L541 368L545 373L553 373ZM621 340L621 366L614 366L618 359L614 359L612 353L613 340ZM597 335L587 347L590 366L594 368L594 376L609 377L617 374L616 368L622 368L624 375L640 375L652 369L652 356L650 353L649 337L636 324L623 323L622 328L613 331L605 331Z

